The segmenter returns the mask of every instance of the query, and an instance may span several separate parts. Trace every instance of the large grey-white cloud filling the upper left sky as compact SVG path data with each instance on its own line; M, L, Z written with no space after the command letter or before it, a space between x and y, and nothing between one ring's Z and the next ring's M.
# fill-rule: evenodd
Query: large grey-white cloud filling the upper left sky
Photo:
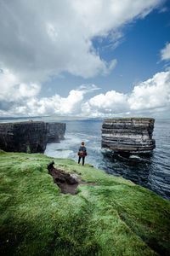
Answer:
M21 81L69 72L83 78L116 65L102 60L95 37L107 37L144 17L162 0L0 1L0 59ZM115 33L114 33L115 32ZM115 36L116 37L116 36Z

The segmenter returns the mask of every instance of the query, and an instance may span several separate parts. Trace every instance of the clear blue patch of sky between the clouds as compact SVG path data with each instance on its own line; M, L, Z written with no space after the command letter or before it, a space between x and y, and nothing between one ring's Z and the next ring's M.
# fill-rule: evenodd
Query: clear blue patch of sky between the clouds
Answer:
M94 78L83 79L65 74L65 79L54 78L45 83L45 87L51 87L61 96L67 96L75 85L97 84L103 91L117 90L119 92L130 92L133 85L139 81L150 79L155 73L164 70L165 62L161 61L160 50L170 41L170 4L165 3L167 11L159 12L159 9L152 11L144 19L135 20L122 29L123 36L116 49L108 38L99 42L94 38L93 44L99 49L99 55L105 61L116 58L116 68L107 76L98 75ZM56 84L66 85L56 88ZM48 85L48 86L46 86ZM51 92L46 91L50 96ZM42 91L42 94L44 91Z

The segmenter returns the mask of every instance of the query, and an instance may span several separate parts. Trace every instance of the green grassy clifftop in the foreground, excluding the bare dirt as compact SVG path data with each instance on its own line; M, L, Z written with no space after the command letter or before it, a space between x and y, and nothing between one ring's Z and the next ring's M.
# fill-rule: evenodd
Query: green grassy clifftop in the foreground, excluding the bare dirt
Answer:
M99 186L60 195L48 165ZM3 255L169 255L170 203L73 160L0 151Z

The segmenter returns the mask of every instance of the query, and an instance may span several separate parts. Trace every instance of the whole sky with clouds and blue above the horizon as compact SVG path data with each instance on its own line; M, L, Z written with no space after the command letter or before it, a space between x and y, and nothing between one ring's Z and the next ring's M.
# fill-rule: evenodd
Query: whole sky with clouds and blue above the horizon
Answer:
M169 0L0 0L0 117L170 118Z

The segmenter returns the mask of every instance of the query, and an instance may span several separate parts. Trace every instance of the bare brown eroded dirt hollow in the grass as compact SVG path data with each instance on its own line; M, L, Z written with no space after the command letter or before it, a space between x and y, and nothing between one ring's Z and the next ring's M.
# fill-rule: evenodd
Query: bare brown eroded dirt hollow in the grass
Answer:
M54 178L54 183L56 183L61 189L61 193L71 195L77 194L77 186L79 184L88 184L91 186L98 186L96 183L85 183L80 179L81 174L77 174L77 171L74 171L74 174L69 174L63 170L54 168L54 162L48 166L48 174Z

